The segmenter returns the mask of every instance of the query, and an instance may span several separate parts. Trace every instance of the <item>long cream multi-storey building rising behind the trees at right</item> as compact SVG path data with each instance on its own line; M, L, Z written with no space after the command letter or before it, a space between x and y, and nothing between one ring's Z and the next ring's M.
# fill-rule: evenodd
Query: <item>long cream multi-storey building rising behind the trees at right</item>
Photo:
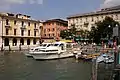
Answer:
M120 22L120 6L101 9L100 11L90 13L68 16L68 28L71 28L72 25L75 25L78 31L90 31L91 27L95 26L96 22L104 20L106 16L109 16L115 21Z

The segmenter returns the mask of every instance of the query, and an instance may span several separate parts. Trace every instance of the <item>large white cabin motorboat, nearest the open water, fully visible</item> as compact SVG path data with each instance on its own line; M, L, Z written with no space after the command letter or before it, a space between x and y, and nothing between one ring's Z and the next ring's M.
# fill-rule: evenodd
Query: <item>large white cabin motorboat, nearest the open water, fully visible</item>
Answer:
M34 59L49 60L73 57L72 45L65 42L55 42L53 46L45 49L35 50L32 54Z

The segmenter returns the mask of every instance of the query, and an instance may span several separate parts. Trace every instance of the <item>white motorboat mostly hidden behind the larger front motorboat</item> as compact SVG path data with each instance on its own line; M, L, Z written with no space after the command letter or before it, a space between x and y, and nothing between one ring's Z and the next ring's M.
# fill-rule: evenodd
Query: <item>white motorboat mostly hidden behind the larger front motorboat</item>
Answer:
M52 43L42 43L41 45L31 48L28 53L25 53L26 56L32 57L31 54L34 54L35 51L40 50L40 49L45 49L46 47L49 47L53 45Z

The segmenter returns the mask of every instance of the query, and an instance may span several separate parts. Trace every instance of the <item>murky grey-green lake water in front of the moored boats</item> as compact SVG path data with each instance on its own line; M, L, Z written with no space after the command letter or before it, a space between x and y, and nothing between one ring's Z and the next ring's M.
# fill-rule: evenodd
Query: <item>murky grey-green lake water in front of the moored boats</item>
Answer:
M92 62L76 61L74 58L36 61L26 57L24 53L0 52L0 80L91 79Z

